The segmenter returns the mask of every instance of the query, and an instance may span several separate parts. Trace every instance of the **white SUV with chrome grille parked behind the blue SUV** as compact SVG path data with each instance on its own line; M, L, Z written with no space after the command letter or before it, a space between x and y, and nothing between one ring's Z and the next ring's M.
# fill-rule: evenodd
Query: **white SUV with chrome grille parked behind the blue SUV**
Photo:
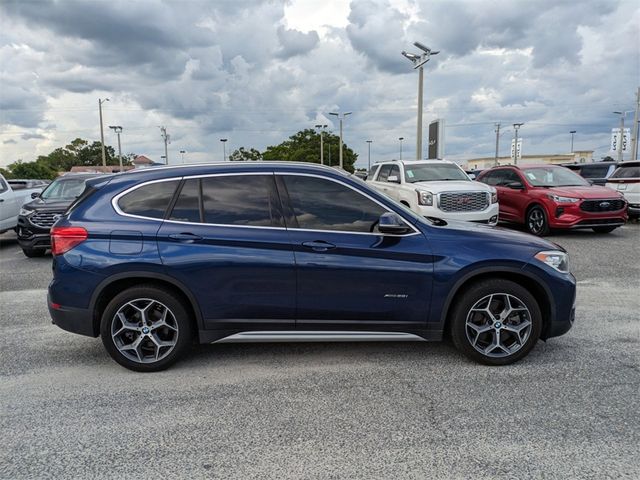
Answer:
M471 180L453 162L382 162L374 165L367 182L425 217L498 223L496 189Z

